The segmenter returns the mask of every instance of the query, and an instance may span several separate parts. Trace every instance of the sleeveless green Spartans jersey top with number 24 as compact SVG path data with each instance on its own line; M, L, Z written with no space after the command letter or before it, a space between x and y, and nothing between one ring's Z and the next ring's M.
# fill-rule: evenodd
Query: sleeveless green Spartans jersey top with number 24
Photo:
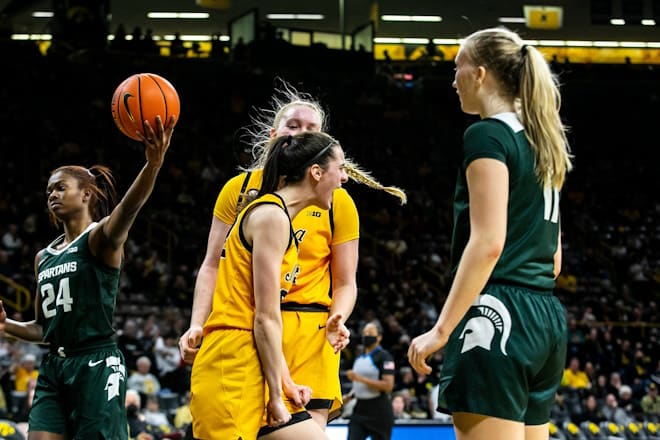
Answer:
M54 347L84 348L114 337L113 314L119 269L106 266L89 250L92 223L67 246L53 241L38 263L37 291L41 297L38 322L44 341Z

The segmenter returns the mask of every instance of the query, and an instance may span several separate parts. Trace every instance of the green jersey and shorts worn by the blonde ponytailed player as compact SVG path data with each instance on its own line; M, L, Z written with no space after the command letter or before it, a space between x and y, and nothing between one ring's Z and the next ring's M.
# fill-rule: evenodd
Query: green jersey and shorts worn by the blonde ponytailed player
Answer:
M559 192L538 181L515 114L471 125L454 200L454 271L470 236L466 170L481 158L501 161L509 172L506 241L486 287L449 338L438 409L543 424L566 356L565 310L552 295Z

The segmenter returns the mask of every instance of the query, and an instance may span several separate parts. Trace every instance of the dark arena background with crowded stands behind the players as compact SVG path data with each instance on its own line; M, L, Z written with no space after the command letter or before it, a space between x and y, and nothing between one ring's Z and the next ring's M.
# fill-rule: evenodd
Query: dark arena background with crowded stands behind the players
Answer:
M556 295L568 313L566 367L577 359L589 383L560 388L551 438L658 438L660 2L545 3L530 10L519 1L476 0L0 2L0 298L8 315L34 317L34 256L60 234L46 209L50 171L104 164L123 194L144 153L114 125L110 99L134 73L161 75L179 93L181 117L126 246L115 316L120 343L134 334L130 349L152 358L158 376L154 347L188 328L213 205L245 157L239 129L268 107L281 78L323 104L328 132L348 156L409 198L400 206L383 192L345 185L361 236L342 383L351 386L344 374L359 353L360 329L377 319L396 361L393 395L404 397L393 438L453 438L451 420L434 411L442 351L430 376L417 375L406 353L435 322L451 280L454 182L463 131L475 121L452 88L454 56L470 32L506 26L557 73L575 155L561 198ZM411 21L419 16L440 20ZM8 426L24 424L29 411L16 370L29 354L38 369L43 352L0 339L0 415ZM135 358L127 360L134 369ZM154 428L154 438L183 436L175 414L186 404L189 374L180 363L168 376L159 403L169 424ZM642 401L653 393L649 409ZM625 418L607 418L608 394ZM597 411L588 409L592 397ZM328 435L346 438L349 418L350 407Z

